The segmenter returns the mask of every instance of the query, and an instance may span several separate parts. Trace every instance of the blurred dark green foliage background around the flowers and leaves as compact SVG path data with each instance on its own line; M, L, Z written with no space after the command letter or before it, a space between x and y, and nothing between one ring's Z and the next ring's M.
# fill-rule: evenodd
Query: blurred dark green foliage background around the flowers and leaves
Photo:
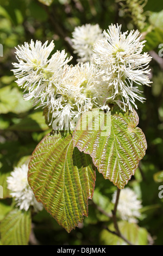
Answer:
M14 166L32 154L49 132L42 109L35 110L30 102L24 101L22 89L15 83L11 71L12 63L16 62L15 47L31 39L42 42L54 40L55 51L65 49L69 56L73 56L72 63L76 64L77 56L73 53L70 40L76 26L98 23L102 29L107 29L111 23L118 23L122 24L123 31L139 29L143 39L147 40L144 51L153 57L152 87L143 87L146 103L137 102L139 127L146 135L148 148L135 176L127 185L142 200L143 208L139 223L120 220L120 228L136 245L162 245L163 199L158 196L159 186L163 182L163 57L159 56L159 45L163 43L162 1L155 0L153 3L153 0L148 0L145 6L142 6L143 3L140 5L139 1L113 0L0 0L0 4L0 44L3 45L3 57L0 57L0 185L3 186L4 197L0 200L0 221L12 207L7 176ZM43 210L32 216L29 244L123 243L104 229L104 225L112 225L105 212L111 212L111 198L115 190L110 181L97 173L89 217L84 217L83 224L68 234Z

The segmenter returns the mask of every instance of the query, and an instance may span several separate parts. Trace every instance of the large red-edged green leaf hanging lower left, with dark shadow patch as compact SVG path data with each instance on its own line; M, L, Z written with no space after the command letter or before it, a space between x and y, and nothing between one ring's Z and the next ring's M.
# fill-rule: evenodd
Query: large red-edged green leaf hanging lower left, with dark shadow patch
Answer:
M72 135L47 135L29 163L28 182L37 201L69 233L88 215L95 170L91 157L73 147Z

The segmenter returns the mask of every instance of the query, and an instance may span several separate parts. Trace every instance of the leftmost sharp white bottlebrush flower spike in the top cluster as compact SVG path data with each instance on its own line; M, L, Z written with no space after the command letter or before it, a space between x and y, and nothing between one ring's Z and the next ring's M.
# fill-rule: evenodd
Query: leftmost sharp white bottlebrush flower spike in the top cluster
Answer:
M38 102L43 105L48 100L48 91L53 87L55 92L60 84L67 77L67 63L71 58L66 58L65 51L55 52L48 59L54 49L53 41L51 44L48 41L42 45L40 41L33 40L25 42L24 45L16 48L16 57L18 63L13 63L14 72L17 79L17 84L21 88L27 90L24 95L25 100L32 99L34 105ZM45 103L46 104L46 103Z

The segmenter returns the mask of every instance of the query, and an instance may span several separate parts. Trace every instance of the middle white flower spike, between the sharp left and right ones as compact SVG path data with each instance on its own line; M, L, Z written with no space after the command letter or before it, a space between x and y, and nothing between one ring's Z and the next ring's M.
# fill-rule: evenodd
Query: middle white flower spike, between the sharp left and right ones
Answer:
M90 63L80 63L71 67L71 75L65 84L58 89L57 100L48 101L48 108L52 109L53 129L58 125L62 130L65 125L74 129L74 121L80 117L80 114L90 111L96 106L97 92L95 90L96 68ZM54 95L53 89L49 91L49 97ZM57 125L58 124L58 125Z

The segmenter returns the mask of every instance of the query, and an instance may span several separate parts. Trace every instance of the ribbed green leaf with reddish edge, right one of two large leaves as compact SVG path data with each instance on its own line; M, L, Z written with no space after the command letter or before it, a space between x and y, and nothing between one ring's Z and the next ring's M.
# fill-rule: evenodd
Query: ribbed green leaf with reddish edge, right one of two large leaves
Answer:
M104 114L94 109L82 115L73 133L74 146L90 154L99 173L120 189L146 153L146 138L136 127L138 122L135 111L124 113L117 108Z

